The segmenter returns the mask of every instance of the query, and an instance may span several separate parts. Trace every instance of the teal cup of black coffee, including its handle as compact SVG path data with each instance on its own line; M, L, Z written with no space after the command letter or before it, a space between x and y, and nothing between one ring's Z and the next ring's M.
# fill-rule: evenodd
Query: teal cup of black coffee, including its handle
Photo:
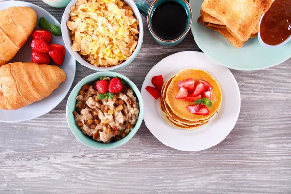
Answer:
M192 11L186 0L155 0L151 5L138 0L136 6L147 17L151 35L162 46L179 44L190 30Z

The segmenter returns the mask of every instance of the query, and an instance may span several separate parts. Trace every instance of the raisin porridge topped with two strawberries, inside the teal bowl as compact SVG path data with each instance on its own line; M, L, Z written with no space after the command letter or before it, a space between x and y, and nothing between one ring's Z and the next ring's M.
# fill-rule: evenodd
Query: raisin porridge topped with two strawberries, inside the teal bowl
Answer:
M124 138L138 120L138 100L132 88L118 77L100 77L83 85L76 100L73 114L79 129L99 142Z

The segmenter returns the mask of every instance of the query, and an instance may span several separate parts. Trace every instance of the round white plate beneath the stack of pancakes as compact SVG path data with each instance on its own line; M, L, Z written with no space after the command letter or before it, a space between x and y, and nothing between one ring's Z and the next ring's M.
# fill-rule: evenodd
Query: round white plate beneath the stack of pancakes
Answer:
M197 68L209 72L220 84L222 103L220 111L204 126L191 130L177 130L160 109L160 100L155 100L147 91L152 86L151 78L162 75L164 81L184 69ZM144 121L150 132L163 144L182 151L200 151L220 143L235 126L239 117L241 97L238 84L224 66L218 65L205 54L194 51L179 52L157 63L147 74L142 86Z

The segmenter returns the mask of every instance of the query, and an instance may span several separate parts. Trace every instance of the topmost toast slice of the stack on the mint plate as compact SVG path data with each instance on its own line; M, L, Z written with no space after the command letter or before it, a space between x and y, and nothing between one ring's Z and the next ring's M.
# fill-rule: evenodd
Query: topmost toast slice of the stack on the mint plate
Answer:
M204 0L201 9L221 21L241 42L245 42L272 2L273 0Z

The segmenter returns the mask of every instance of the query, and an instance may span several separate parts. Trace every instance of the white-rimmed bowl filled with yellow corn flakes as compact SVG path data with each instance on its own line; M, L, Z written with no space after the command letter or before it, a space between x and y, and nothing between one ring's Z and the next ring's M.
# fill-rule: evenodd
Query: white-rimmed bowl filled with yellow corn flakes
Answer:
M144 34L133 0L72 0L61 28L70 54L96 71L129 65L142 47Z

